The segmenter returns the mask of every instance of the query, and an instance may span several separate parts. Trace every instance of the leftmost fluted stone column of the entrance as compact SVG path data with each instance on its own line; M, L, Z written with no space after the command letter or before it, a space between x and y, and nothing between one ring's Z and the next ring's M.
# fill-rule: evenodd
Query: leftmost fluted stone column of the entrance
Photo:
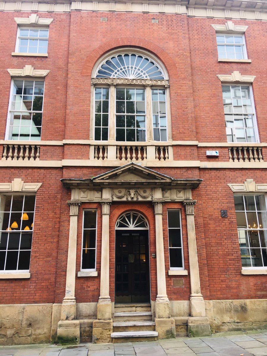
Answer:
M81 202L78 200L68 201L70 205L70 232L68 239L68 260L66 275L66 291L62 302L61 320L73 320L76 318L75 298L75 273L76 273L76 250L77 250L77 221L78 210Z

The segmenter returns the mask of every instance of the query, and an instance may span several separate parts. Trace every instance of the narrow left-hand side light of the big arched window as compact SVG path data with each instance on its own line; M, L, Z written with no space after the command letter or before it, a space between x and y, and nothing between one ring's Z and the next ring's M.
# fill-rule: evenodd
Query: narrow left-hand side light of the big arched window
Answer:
M109 88L94 89L94 139L108 140Z

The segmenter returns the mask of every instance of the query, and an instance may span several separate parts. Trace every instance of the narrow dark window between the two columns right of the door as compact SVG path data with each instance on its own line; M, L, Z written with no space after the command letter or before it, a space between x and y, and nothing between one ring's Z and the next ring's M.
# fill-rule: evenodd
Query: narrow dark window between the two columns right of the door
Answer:
M168 210L170 269L184 269L180 210Z

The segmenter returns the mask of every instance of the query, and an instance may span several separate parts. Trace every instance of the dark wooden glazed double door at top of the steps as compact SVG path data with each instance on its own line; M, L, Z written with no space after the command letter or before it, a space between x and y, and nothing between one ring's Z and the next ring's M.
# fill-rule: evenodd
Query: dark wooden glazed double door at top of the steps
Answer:
M116 230L115 303L150 302L148 230Z

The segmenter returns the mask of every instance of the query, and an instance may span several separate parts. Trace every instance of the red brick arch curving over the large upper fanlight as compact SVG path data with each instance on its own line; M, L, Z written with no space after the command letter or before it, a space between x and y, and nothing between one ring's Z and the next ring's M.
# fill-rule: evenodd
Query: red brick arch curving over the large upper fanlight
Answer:
M172 77L172 75L177 75L178 69L174 61L169 56L169 54L164 51L164 49L157 46L155 43L143 40L142 38L129 37L115 38L95 48L85 59L82 68L82 74L91 76L95 63L103 56L103 54L115 48L122 47L133 47L133 49L134 47L138 47L144 49L145 51L152 52L164 64L166 70L169 73L169 77Z

